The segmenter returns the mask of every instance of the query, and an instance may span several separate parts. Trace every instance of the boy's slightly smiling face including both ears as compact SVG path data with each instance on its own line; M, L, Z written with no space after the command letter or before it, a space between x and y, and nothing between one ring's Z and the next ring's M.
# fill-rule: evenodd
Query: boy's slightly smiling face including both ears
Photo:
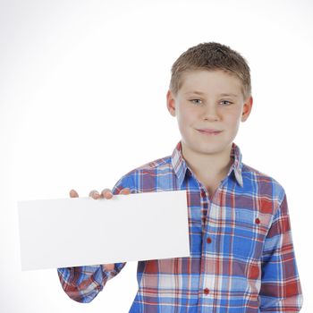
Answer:
M241 80L223 71L186 72L177 95L169 90L166 97L183 148L202 155L229 153L252 107L252 97L242 95Z

